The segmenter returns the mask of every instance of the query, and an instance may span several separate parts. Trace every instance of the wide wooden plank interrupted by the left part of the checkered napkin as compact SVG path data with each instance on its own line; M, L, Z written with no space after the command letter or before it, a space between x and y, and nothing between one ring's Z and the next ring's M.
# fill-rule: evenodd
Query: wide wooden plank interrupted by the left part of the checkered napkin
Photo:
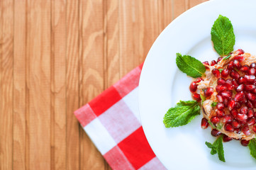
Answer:
M80 106L104 90L104 1L83 0L80 4ZM93 24L91 24L93 23ZM104 158L80 128L80 169L104 169Z

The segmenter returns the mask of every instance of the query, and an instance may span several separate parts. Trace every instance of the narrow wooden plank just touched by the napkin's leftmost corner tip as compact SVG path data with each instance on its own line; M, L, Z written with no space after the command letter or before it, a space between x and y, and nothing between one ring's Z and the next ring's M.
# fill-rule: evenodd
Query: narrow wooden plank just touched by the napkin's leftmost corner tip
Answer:
M79 169L79 1L67 0L67 169Z

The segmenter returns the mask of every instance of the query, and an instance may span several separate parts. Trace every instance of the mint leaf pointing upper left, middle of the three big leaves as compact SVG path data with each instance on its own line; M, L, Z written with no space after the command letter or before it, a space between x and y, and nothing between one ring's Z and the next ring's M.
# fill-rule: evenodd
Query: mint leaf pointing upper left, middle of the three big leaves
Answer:
M206 67L199 60L189 55L176 54L176 64L179 69L186 73L190 77L202 77L204 72L206 72Z

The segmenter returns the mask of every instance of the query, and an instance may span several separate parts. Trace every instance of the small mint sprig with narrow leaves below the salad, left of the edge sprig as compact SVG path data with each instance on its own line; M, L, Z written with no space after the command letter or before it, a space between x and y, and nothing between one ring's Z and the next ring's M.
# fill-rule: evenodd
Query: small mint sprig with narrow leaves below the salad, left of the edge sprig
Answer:
M210 142L206 142L205 144L208 148L211 149L211 154L218 153L218 159L220 159L222 162L226 162L224 157L222 140L223 140L223 135L218 137L218 139L215 142L213 142L213 144L211 144Z

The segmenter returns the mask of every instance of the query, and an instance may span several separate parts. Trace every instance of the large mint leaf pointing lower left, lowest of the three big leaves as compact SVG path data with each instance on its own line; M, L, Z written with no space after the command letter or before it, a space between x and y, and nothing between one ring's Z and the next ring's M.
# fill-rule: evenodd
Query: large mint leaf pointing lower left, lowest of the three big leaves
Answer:
M179 101L174 108L169 108L164 117L166 128L187 125L196 115L200 115L200 106L197 101Z

